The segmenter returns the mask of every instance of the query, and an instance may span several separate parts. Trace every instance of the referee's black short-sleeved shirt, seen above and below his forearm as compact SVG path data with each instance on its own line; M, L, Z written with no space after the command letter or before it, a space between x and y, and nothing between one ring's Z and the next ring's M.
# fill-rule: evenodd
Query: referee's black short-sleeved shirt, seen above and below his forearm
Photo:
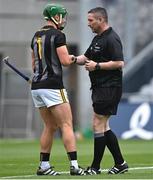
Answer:
M109 27L96 35L84 54L95 62L123 61L122 43L116 32ZM122 70L95 70L89 72L92 87L122 86Z

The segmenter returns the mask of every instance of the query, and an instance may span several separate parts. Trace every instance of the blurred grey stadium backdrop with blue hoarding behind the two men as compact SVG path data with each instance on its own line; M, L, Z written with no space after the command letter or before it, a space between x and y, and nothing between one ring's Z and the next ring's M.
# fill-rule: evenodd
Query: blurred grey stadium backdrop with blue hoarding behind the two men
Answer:
M30 42L44 25L46 3L61 3L68 12L64 29L71 54L79 55L93 37L87 12L103 6L120 35L126 65L123 97L112 128L123 139L153 139L153 3L152 0L0 0L0 59L10 56L31 76ZM83 67L64 68L76 135L91 136L90 82ZM37 138L42 129L29 85L0 61L0 138ZM81 133L81 134L80 134Z

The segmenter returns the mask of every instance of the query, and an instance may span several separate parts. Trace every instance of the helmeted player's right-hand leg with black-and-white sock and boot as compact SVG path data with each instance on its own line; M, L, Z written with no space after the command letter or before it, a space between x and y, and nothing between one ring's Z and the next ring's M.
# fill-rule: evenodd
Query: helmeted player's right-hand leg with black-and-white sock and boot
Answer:
M72 126L72 113L69 103L62 103L52 107L51 112L62 133L64 147L70 160L71 175L85 175L77 162L75 135Z

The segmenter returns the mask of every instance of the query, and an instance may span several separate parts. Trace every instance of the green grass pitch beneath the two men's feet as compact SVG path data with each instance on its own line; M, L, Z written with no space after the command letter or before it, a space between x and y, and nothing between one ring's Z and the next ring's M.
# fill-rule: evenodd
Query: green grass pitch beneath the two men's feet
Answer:
M94 176L70 176L69 161L60 139L55 139L50 161L57 171L65 172L61 176L36 176L39 164L38 140L0 139L0 179L153 179L153 141L122 140L120 146L129 171L120 175L108 175L103 171ZM77 141L80 166L90 165L93 157L93 140ZM113 159L106 149L102 169L113 165ZM67 173L67 174L66 174Z

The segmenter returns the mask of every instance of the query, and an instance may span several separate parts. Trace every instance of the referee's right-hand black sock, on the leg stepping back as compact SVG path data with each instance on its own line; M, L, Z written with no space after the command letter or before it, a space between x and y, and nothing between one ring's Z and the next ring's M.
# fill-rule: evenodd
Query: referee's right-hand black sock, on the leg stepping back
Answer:
M116 135L111 130L106 131L104 135L106 138L106 145L111 154L113 155L115 164L122 164L124 162L124 159L121 154Z

